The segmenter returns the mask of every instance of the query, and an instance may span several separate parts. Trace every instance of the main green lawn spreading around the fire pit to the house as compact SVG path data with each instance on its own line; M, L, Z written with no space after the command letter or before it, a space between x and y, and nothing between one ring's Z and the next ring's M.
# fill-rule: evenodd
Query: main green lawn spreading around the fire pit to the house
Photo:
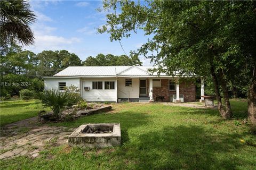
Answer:
M255 134L242 123L246 105L231 100L234 119L225 121L212 109L114 104L109 113L49 125L74 128L85 123L121 123L121 146L52 147L35 159L2 160L1 169L255 169ZM27 105L17 107L22 114Z

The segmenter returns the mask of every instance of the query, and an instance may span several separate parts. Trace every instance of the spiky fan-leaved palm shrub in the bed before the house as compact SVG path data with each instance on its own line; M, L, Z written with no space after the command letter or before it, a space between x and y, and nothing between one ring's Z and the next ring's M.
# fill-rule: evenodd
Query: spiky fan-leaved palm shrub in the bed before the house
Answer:
M36 99L40 100L44 106L50 107L54 116L59 119L65 107L73 106L81 100L81 96L68 90L59 92L58 90L44 90L37 92Z

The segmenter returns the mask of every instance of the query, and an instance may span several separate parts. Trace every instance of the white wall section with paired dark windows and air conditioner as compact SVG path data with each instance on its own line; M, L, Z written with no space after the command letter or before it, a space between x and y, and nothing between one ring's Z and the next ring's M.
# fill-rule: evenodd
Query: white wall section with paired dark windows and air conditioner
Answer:
M93 90L92 82L93 81L102 81L102 90ZM115 89L105 90L105 81L114 81ZM116 78L88 78L82 79L82 97L86 101L117 101L117 83ZM84 87L90 87L89 91L85 91Z

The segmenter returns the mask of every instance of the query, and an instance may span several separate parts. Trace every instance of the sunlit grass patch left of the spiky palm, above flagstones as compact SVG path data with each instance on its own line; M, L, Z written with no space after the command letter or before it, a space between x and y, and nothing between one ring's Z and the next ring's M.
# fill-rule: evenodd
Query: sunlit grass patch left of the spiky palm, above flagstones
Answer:
M41 104L37 104L35 100L2 101L0 103L1 127L26 118L35 117L38 111L42 109L45 108Z

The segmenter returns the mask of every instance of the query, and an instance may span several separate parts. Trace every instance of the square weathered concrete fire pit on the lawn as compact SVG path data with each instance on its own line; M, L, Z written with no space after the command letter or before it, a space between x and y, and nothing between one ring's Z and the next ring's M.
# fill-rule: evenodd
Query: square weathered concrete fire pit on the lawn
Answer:
M84 124L68 137L70 146L105 148L121 145L119 123Z

